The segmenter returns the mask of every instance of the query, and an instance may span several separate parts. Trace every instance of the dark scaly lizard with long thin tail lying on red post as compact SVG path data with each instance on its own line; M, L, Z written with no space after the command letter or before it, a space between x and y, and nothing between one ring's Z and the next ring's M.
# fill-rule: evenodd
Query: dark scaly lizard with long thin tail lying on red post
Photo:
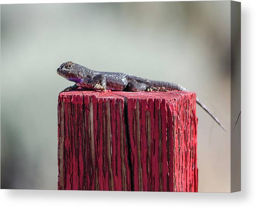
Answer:
M77 63L73 63L72 61L62 63L57 69L57 73L67 80L76 83L73 86L65 88L62 90L62 92L74 90L78 87L101 91L188 91L181 85L174 84L172 82L149 80L128 73L98 72ZM220 123L218 118L211 113L208 107L199 101L198 97L196 97L196 102L216 121L216 123L220 125L223 130L226 131L225 127Z

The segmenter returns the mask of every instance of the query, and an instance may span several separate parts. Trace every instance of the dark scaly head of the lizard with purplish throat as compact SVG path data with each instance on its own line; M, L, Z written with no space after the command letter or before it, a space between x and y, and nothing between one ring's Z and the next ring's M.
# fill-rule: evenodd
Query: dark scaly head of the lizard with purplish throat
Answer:
M68 61L60 65L57 69L57 73L69 81L78 83L82 78L83 68L83 66L77 63Z

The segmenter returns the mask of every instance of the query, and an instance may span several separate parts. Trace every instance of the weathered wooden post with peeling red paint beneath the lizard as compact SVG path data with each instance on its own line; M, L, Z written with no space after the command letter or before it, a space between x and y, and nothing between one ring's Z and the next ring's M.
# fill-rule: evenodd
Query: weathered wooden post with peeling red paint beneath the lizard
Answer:
M197 191L196 95L62 92L58 189Z

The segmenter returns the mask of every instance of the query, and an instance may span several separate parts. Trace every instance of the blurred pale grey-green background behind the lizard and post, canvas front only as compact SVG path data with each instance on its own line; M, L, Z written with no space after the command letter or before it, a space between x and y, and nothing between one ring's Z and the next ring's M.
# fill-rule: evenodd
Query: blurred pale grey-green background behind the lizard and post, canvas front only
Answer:
M197 93L198 191L230 191L230 2L1 5L1 188L57 189L57 99L73 61Z

